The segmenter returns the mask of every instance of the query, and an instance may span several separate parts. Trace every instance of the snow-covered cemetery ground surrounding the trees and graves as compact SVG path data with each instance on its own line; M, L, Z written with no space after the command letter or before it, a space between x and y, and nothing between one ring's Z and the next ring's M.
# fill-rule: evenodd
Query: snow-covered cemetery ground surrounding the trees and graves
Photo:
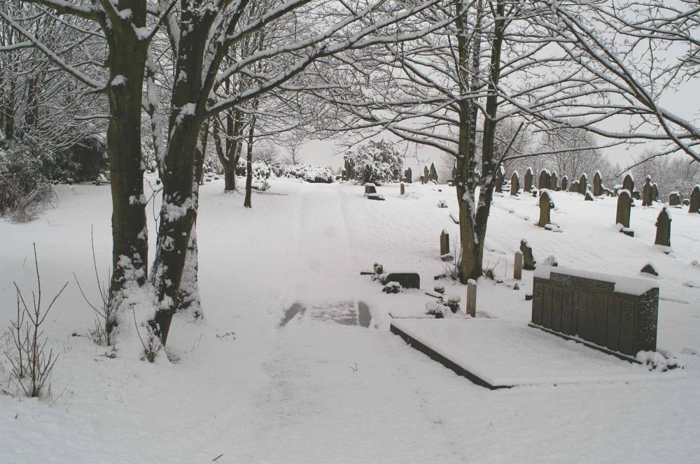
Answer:
M43 291L71 282L47 320L60 353L50 398L0 394L0 462L700 462L700 215L672 210L667 256L653 246L660 205L633 208L629 238L614 227L615 198L554 192L552 221L563 232L553 233L534 225L536 198L497 197L484 261L504 282L479 281L477 317L527 324L532 273L519 290L511 279L521 238L538 261L554 255L567 268L639 277L652 262L658 345L685 365L685 378L489 391L388 332L390 311L420 311L430 297L386 295L359 275L378 261L420 273L432 290L445 270L440 232L458 237L454 189L412 184L400 197L391 185L378 188L386 201L368 201L352 184L271 182L253 210L223 194L223 181L202 187L205 319L176 319L172 364L108 358L83 336L93 315L72 273L96 299L90 226L106 273L109 187L59 186L59 206L40 219L0 222L0 320L16 310L12 281L34 284L31 242ZM449 208L437 208L440 198ZM465 287L442 283L464 304ZM7 378L0 371L3 388Z

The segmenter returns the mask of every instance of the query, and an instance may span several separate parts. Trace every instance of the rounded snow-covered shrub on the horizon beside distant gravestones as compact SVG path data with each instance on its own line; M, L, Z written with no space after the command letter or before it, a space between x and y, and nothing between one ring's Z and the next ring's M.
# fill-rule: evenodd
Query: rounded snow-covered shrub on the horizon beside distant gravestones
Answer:
M355 163L358 182L372 182L377 185L386 182L399 182L403 175L403 158L393 145L384 140L370 140L358 147L357 152L349 152L346 159Z

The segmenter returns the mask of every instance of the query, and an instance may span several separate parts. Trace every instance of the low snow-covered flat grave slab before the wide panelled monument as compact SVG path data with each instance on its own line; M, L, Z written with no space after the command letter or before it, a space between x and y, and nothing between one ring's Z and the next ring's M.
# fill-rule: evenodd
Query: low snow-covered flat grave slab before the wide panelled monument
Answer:
M573 340L501 319L392 319L409 345L489 389L685 378L650 372Z

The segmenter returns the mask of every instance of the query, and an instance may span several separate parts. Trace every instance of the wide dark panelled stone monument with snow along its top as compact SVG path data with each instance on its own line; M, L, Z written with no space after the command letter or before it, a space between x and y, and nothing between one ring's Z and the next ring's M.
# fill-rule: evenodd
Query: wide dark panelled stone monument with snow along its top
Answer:
M531 325L628 358L656 351L659 287L652 280L538 268Z

